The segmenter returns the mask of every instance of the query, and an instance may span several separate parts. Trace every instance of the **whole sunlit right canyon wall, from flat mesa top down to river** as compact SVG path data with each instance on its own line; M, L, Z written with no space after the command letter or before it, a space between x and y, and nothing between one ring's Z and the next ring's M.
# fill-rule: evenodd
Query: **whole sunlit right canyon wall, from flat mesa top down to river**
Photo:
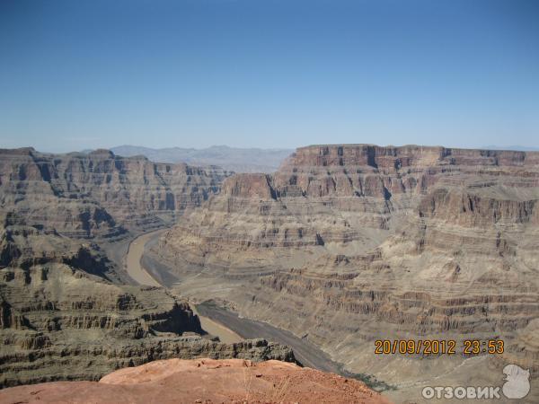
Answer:
M518 342L539 316L537 200L539 153L308 146L270 176L225 180L154 253L182 293L388 382L404 375L385 373L399 358L374 356L377 338L507 338L505 357L537 372L537 347Z

